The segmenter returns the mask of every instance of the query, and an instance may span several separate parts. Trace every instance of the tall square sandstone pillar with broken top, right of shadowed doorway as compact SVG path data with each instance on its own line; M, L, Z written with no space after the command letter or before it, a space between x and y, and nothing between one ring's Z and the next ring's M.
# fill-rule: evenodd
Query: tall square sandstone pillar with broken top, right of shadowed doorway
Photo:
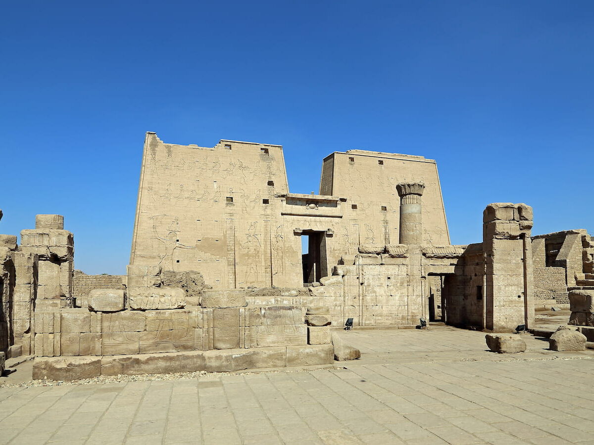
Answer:
M532 207L499 202L483 213L485 328L510 332L534 322Z

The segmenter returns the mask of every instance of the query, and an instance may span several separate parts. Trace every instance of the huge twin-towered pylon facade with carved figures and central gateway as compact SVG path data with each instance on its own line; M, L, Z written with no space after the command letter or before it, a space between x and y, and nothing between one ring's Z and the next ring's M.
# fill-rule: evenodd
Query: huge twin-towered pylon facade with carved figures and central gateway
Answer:
M321 195L289 193L280 145L144 144L132 265L197 270L214 289L301 287L301 236L323 234L320 276L359 244L399 239L400 182L424 181L425 244L449 236L435 161L349 150L324 159Z

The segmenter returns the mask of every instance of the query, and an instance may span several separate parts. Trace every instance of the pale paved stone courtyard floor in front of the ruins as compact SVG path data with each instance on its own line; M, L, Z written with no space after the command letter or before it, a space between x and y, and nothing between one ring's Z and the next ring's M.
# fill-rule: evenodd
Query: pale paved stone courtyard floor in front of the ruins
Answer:
M594 443L594 351L485 351L438 327L342 332L346 368L0 387L0 443Z

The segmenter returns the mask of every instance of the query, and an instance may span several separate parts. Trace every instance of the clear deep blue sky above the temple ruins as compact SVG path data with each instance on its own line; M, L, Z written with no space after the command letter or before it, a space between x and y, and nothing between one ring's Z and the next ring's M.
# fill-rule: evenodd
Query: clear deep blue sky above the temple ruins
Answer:
M29 1L2 6L0 233L58 213L122 274L144 132L282 144L292 192L349 148L437 160L451 240L489 202L594 232L592 1Z

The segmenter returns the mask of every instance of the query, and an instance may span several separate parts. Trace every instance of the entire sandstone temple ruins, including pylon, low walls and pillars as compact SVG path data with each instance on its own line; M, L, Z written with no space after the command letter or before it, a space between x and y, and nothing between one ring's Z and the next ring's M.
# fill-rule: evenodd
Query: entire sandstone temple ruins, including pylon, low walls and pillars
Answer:
M482 243L451 245L434 160L333 152L303 195L280 145L148 132L127 275L74 270L61 215L0 236L0 355L72 380L330 364L358 356L331 332L351 325L502 333L571 305L570 325L594 326L589 234L532 223L529 205L488 204Z

